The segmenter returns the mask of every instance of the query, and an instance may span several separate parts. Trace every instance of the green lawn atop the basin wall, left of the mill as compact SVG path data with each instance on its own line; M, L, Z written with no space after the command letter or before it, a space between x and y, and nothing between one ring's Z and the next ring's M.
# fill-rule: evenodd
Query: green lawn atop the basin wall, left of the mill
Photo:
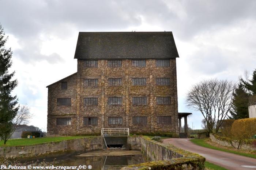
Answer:
M54 142L54 141L63 141L68 139L77 139L77 138L84 138L82 136L76 137L42 137L42 138L31 138L31 139L9 139L4 145L4 141L0 141L0 147L2 146L26 146L26 145L35 145L39 143L47 143L47 142Z

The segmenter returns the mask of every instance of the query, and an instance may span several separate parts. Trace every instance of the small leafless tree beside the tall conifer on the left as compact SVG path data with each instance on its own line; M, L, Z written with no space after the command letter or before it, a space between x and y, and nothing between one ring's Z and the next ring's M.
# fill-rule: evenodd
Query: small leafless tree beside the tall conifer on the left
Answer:
M8 139L20 125L29 124L29 120L32 118L32 116L33 114L30 113L30 108L27 106L27 104L20 106L17 115L12 120L12 129Z

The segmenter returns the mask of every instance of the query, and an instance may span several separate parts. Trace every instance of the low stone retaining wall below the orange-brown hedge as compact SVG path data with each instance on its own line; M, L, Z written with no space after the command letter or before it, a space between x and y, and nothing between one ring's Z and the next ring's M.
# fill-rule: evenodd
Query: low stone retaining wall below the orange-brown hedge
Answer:
M237 141L237 140L231 140L231 139L227 140L226 138L219 137L219 136L213 135L213 134L210 134L210 139L212 142L218 143L219 145L233 147L236 149L238 148L238 145L239 145L239 141ZM239 149L256 150L256 147L250 143L241 141Z

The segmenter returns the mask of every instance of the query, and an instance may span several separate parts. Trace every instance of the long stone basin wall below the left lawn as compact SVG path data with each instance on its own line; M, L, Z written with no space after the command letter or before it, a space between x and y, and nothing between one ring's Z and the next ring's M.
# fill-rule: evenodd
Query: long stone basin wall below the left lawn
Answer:
M29 146L0 147L0 158L26 158L46 154L103 149L103 138L79 138Z

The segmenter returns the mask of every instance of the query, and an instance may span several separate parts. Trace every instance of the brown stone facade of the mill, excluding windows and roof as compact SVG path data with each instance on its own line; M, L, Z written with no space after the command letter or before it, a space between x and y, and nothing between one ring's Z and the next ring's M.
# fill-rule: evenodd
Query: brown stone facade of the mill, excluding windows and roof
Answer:
M176 59L170 67L156 67L155 59L146 59L146 67L132 67L132 60L123 59L121 67L108 67L108 60L99 59L98 67L84 68L78 59L77 74L63 79L68 90L60 90L60 82L48 86L48 134L99 134L101 128L129 128L130 132L172 132L178 134ZM98 87L84 87L84 79L98 79ZM122 78L122 86L108 86L108 78ZM132 78L146 78L146 86L132 86ZM170 78L170 86L157 86L156 78ZM70 90L70 91L69 91ZM108 105L108 97L122 97L122 105ZM132 105L132 97L146 96L146 105ZM157 105L157 96L169 96L170 105ZM56 106L56 98L72 98L71 106ZM83 105L83 98L98 98L97 106ZM56 126L57 117L71 117L71 125ZM108 117L122 117L123 124L108 124ZM133 116L147 116L147 124L135 125ZM171 124L158 124L157 116L171 116ZM97 117L98 125L83 125L84 117Z

